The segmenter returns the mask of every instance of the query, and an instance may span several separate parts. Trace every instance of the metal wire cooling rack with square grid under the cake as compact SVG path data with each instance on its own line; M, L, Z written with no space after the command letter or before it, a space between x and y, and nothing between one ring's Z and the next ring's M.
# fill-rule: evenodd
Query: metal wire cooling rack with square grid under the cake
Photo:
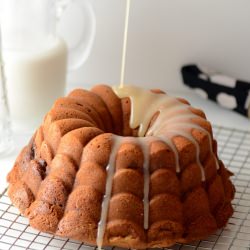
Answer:
M166 249L250 249L250 131L214 126L219 155L225 165L234 172L236 196L235 212L228 225L202 241L192 244L176 244ZM65 249L95 250L95 247L77 241L41 233L28 224L11 205L6 190L0 195L0 250L7 249ZM121 248L107 248L121 250Z

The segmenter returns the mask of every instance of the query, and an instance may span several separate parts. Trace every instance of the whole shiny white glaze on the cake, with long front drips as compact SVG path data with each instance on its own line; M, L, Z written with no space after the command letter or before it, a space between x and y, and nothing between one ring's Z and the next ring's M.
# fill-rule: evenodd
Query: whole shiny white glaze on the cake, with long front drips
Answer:
M166 94L155 94L148 90L143 90L134 86L120 86L113 87L115 93L120 97L129 97L131 100L131 115L130 127L139 127L138 135L140 137L121 137L113 135L113 146L110 154L110 159L107 170L106 189L103 197L101 218L98 223L97 230L97 246L101 249L105 228L107 224L107 216L109 209L109 202L112 195L112 182L115 174L115 157L120 146L123 143L134 143L139 145L143 153L143 173L144 173L144 229L148 229L149 219L149 145L153 141L162 141L168 145L175 156L176 172L180 172L179 154L172 139L176 136L182 136L191 141L196 148L196 161L201 170L202 181L205 181L204 168L200 162L200 147L198 142L192 135L192 129L201 130L206 133L209 138L210 151L216 160L217 169L219 168L218 160L213 153L212 138L210 133L202 126L198 125L193 118L204 119L189 109L189 105L183 104L176 98L169 97ZM146 108L146 113L142 112L141 108ZM150 121L153 115L159 111L159 115L149 128ZM173 116L177 112L177 115ZM179 114L178 114L179 112ZM146 136L146 137L143 137Z

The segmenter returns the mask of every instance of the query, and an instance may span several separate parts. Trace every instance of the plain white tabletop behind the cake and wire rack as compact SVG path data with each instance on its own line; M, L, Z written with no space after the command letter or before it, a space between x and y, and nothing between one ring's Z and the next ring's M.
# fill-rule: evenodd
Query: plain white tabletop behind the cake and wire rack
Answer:
M221 125L230 128L237 128L241 130L250 130L250 120L242 115L239 115L230 110L225 110L217 104L204 100L192 92L174 93L176 96L182 96L188 99L194 107L203 109L207 115L208 120L213 124ZM14 149L12 152L0 158L0 192L7 187L6 176L12 168L14 161L20 152L21 148L26 145L31 137L30 134L14 134Z

